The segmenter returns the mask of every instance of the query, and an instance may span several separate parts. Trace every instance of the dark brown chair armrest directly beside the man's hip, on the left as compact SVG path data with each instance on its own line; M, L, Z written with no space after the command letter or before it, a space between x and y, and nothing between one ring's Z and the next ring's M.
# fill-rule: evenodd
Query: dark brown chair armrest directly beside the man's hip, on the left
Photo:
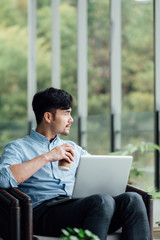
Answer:
M33 208L31 198L18 188L8 188L7 191L19 200L21 208L21 239L33 239Z

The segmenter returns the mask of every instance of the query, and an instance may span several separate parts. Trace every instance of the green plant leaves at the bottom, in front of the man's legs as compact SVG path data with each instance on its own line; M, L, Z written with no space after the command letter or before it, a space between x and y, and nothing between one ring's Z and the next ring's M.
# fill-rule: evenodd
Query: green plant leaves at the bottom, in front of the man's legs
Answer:
M70 228L62 229L62 236L60 237L62 240L99 240L99 237L94 235L89 230L83 230L81 228Z

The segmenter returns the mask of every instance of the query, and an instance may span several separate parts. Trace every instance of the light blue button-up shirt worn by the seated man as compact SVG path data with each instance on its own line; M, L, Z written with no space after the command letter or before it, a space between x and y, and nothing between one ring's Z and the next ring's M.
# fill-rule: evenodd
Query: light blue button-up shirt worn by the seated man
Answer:
M69 171L59 170L58 161L48 162L29 179L18 184L9 168L10 165L27 162L64 143L74 147L74 162ZM18 187L31 197L33 207L59 195L71 196L79 159L84 154L88 153L72 141L64 141L56 136L50 143L48 138L32 129L30 136L6 145L0 160L0 187Z

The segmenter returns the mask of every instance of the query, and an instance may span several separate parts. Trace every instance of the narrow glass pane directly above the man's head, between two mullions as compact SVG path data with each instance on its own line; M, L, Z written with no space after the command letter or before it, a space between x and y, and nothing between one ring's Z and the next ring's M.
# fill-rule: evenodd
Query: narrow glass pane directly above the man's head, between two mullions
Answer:
M36 74L38 90L51 85L51 1L37 1Z

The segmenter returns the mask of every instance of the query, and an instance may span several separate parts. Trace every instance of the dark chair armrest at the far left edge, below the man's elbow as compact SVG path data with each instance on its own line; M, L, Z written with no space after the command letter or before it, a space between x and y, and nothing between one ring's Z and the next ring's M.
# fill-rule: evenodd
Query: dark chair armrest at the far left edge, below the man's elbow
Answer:
M0 189L0 237L20 240L19 201L5 189Z

